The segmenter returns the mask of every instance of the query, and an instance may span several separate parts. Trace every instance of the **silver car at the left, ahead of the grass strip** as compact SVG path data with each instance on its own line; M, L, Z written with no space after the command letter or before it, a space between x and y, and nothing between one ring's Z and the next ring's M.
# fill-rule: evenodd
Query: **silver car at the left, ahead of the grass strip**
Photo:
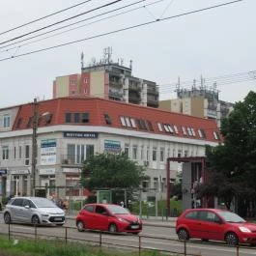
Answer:
M65 223L65 213L43 197L14 197L6 205L4 220L6 224L25 222L62 226Z

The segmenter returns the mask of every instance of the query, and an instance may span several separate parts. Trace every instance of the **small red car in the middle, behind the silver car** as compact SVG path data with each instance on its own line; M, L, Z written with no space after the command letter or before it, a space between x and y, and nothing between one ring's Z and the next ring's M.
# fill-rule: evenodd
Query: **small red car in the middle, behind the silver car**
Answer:
M128 209L114 204L87 204L76 216L78 231L85 229L138 234L142 221Z

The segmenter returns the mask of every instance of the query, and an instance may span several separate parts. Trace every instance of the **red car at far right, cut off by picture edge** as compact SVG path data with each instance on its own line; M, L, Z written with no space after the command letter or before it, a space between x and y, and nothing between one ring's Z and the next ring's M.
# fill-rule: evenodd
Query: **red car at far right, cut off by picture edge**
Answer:
M256 243L256 224L241 216L220 209L188 209L176 222L179 240L197 238L203 241L224 241L228 244Z

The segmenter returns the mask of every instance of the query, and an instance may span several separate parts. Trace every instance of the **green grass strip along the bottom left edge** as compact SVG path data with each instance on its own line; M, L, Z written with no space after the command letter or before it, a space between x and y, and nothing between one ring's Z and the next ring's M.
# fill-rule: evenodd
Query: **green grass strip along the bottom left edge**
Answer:
M138 256L138 252L118 251L98 246L83 245L59 241L32 241L15 239L9 241L7 237L0 236L1 256ZM140 256L162 256L156 250L141 251ZM176 256L176 255L173 255Z

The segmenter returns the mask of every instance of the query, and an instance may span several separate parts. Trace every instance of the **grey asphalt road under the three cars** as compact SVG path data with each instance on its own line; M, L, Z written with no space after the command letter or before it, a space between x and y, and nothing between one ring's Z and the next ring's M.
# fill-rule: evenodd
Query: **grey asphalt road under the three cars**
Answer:
M88 242L90 244L102 244L102 246L111 246L122 249L138 250L141 248L150 248L161 251L184 253L185 243L177 241L174 229L175 222L170 221L144 221L143 232L139 235L118 234L112 235L100 232L78 232L73 219L68 219L64 227L35 227L31 225L12 224L10 225L11 234L26 235L28 237L43 237L54 239L58 237L68 242ZM9 225L3 221L0 213L0 234L8 234ZM24 234L25 233L25 234ZM239 254L236 247L226 246L223 242L199 242L193 240L186 242L186 253L200 256L255 256L256 247L240 247Z

